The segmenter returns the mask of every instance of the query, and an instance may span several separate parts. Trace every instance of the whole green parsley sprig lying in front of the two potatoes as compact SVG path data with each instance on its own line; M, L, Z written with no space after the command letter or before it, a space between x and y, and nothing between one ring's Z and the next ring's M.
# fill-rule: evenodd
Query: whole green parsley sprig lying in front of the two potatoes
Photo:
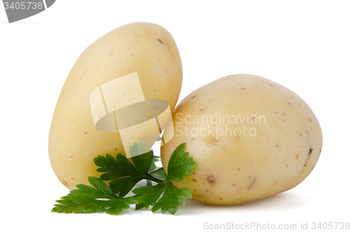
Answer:
M93 159L98 167L98 172L103 172L100 178L88 177L89 183L77 184L78 189L70 191L62 200L56 200L52 212L65 213L88 213L88 212L107 212L108 214L119 214L129 205L136 204L135 209L148 208L152 206L152 212L161 209L162 213L170 212L174 214L179 205L184 205L183 199L191 197L191 191L183 188L178 189L173 181L181 182L185 176L192 175L192 170L197 163L188 158L189 153L183 152L185 143L180 144L173 151L168 162L166 172L163 168L156 169L154 162L157 156L153 151L145 152L143 144L135 142L130 147L130 153L134 165L121 153L117 153L116 158L110 154L98 156ZM143 153L142 155L138 155ZM133 156L135 155L135 156ZM135 184L140 180L156 182L154 186L140 186L133 189ZM110 181L109 185L103 181ZM136 194L130 197L124 197L133 189ZM161 196L161 194L163 195ZM117 196L118 194L118 196ZM104 200L101 200L104 199Z

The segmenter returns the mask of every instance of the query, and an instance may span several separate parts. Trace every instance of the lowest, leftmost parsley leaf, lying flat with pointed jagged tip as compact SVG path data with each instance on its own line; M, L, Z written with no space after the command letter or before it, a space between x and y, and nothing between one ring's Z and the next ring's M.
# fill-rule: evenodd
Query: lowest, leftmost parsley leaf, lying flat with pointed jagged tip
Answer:
M124 209L128 209L128 204L135 204L135 197L119 198L112 193L111 189L98 179L98 177L88 177L89 183L93 186L85 184L77 184L78 189L70 191L62 200L56 200L51 212L64 213L91 213L106 211L108 214L117 215ZM105 198L106 200L98 200ZM108 199L108 200L107 200Z

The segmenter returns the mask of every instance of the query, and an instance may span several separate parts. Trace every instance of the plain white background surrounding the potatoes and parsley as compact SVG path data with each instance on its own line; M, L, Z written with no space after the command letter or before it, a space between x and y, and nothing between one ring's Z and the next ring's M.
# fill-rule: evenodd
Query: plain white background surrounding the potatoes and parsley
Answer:
M350 12L351 1L60 0L8 24L0 5L1 231L203 231L205 222L298 228L301 222L351 222ZM243 205L188 199L176 215L51 212L69 192L55 177L47 151L67 74L100 36L138 21L159 24L176 40L183 62L180 100L230 74L263 76L300 95L324 139L310 176L286 193Z

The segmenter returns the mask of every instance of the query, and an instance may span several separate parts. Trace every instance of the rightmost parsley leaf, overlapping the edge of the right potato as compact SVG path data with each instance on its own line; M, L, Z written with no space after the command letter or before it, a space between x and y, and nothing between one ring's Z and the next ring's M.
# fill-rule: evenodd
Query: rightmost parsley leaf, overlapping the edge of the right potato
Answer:
M163 184L156 186L141 186L133 189L133 193L138 195L138 204L135 209L148 208L153 205L152 212L157 212L161 209L162 213L170 212L175 214L178 210L178 205L184 205L183 199L190 198L192 193L189 189L178 189L171 182L183 181L184 176L192 175L193 170L197 163L188 158L189 153L183 152L185 143L180 144L175 151L173 151L171 158L168 162L168 177ZM161 198L161 193L164 193Z

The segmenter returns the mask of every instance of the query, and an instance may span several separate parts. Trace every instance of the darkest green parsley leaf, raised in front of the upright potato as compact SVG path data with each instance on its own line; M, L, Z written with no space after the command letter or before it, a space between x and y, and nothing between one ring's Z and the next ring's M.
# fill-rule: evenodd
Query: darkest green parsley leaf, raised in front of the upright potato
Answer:
M153 151L148 151L141 155L133 156L135 154L145 152L143 144L135 142L130 147L132 161L134 165L121 153L117 153L116 159L110 154L98 156L93 158L95 165L97 165L98 172L105 172L100 176L101 180L110 181L110 189L113 193L119 193L119 197L124 197L133 189L133 186L142 179L150 179L151 181L161 183L160 179L152 177L149 174L150 165L152 163Z

